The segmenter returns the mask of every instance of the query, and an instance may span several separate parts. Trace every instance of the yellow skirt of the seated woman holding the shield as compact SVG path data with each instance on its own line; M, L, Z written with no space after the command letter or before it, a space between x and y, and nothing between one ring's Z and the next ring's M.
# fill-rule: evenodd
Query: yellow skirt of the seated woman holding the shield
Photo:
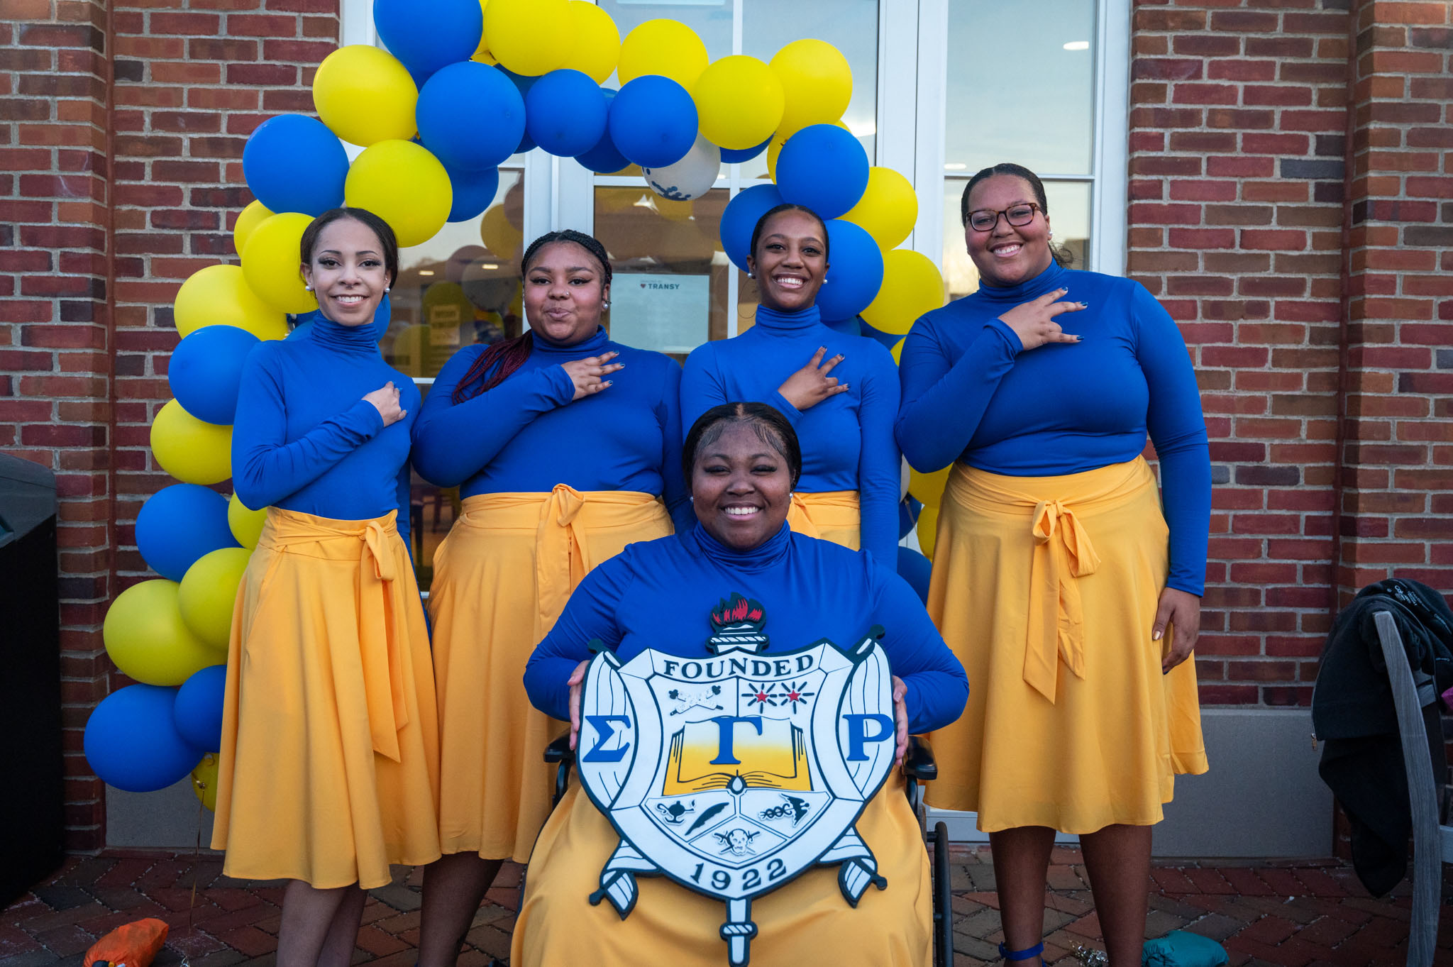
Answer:
M895 771L857 820L888 889L867 887L857 907L837 886L837 867L808 870L751 905L753 967L873 964L927 967L933 960L933 893L918 822ZM609 902L591 906L600 870L620 838L588 796L571 784L526 873L514 922L514 967L671 964L722 967L726 905L665 877L639 877L639 897L620 919Z

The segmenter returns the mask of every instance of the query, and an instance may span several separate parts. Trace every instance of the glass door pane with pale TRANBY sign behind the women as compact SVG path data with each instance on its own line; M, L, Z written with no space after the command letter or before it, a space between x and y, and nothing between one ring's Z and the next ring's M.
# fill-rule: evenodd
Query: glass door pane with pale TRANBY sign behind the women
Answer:
M726 338L726 279L735 272L721 250L726 190L690 202L648 187L597 187L596 238L615 280L606 328L636 348L681 362L709 340Z

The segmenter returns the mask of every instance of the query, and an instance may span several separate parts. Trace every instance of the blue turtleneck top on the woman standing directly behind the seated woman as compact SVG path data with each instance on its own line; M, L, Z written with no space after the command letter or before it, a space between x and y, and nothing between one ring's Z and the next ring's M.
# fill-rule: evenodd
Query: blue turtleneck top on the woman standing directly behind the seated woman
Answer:
M824 360L838 353L833 370L847 392L806 411L783 399L777 388L811 362L819 346ZM898 560L898 498L902 462L894 441L898 375L894 357L876 340L844 335L822 324L817 306L777 312L757 306L757 322L729 340L692 350L681 373L681 425L724 402L764 402L780 409L802 444L805 494L857 491L862 547L883 565Z

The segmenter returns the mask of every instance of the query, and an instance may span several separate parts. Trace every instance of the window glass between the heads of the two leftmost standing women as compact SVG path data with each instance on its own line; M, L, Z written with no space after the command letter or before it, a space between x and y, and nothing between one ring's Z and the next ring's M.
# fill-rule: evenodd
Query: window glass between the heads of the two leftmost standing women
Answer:
M445 225L423 245L398 253L392 319L381 344L391 366L430 378L465 346L520 334L523 225L523 173L501 168L500 190L484 215Z

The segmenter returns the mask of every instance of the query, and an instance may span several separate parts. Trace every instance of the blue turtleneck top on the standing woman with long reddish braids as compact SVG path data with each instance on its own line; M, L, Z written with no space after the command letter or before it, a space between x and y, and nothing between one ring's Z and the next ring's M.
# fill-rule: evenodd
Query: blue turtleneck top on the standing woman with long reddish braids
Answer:
M692 514L681 478L681 367L668 356L612 343L604 330L574 346L536 332L520 369L488 392L453 402L455 388L487 347L468 346L445 364L414 424L414 466L461 494L638 491L664 497L677 530ZM609 351L625 369L612 385L571 402L562 363Z

